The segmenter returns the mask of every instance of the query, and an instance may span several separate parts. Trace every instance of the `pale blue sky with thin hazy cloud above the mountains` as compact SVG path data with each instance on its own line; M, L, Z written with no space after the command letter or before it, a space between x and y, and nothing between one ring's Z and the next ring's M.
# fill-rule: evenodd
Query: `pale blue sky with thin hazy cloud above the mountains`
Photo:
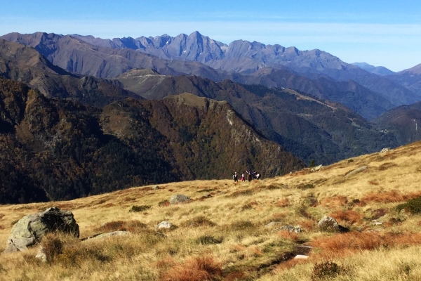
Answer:
M421 63L420 1L0 0L0 34L54 32L101 38L199 31L229 44L319 48L347 63L400 71Z

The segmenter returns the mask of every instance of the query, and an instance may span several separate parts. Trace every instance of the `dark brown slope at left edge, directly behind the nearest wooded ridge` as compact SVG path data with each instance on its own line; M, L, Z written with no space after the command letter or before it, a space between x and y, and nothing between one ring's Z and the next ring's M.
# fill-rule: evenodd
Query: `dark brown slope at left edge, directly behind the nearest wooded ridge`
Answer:
M3 39L0 77L22 81L48 97L72 98L88 105L103 106L121 98L137 97L115 81L67 72L34 48Z

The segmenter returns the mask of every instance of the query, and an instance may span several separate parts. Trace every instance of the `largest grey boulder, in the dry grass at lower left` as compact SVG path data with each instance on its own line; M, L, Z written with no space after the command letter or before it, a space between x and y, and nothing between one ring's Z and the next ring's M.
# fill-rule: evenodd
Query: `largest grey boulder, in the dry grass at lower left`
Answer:
M25 251L38 244L47 233L60 231L79 238L79 225L71 211L61 211L57 207L21 218L12 228L4 253Z

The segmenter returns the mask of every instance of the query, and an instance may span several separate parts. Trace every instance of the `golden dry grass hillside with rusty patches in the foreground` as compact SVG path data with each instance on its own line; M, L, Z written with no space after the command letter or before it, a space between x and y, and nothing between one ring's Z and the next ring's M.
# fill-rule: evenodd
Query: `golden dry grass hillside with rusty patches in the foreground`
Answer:
M147 186L67 202L0 206L4 246L13 221L51 206L73 211L81 237L119 228L134 233L105 242L62 238L65 250L51 265L34 259L36 249L1 255L0 280L310 280L314 265L323 261L340 268L329 280L420 280L421 217L394 211L421 195L420 149L420 142L413 143L314 173L305 169L251 183L190 181L160 190ZM363 165L368 169L345 177ZM307 184L314 188L302 189ZM176 193L193 202L159 207ZM213 197L200 200L208 193ZM152 207L129 213L133 205ZM320 232L315 225L324 215L354 231ZM383 224L374 226L373 218ZM154 230L163 220L178 226L165 232L166 238ZM113 221L121 223L113 227ZM270 221L299 225L303 231L273 232L265 228ZM297 253L295 243L303 242L314 246L310 258L288 261ZM182 279L187 275L190 279Z

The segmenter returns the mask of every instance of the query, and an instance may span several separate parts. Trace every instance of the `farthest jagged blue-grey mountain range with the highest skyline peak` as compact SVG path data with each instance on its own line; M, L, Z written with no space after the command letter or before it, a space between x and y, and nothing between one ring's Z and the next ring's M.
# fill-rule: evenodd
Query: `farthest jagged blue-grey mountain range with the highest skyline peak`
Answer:
M226 45L203 36L199 32L193 32L190 35L180 34L177 37L169 37L165 34L162 37L137 39L129 37L112 40L118 44L107 44L111 42L107 39L82 36L78 38L110 48L134 48L160 58L192 60L227 72L250 74L263 67L276 69L288 67L310 78L327 75L340 81L352 79L370 91L380 94L394 105L415 103L421 99L421 95L413 93L400 84L372 74L356 65L345 63L334 55L317 49L300 51L295 47L285 48L277 44L265 45L244 40L236 40Z

